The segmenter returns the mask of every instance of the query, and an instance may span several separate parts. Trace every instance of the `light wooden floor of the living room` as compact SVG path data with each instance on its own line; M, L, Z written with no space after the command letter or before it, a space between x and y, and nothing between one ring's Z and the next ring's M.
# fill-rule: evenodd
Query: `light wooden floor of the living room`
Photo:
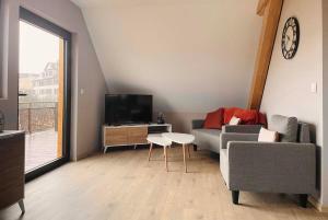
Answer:
M313 220L328 216L302 209L293 197L241 194L234 206L219 160L191 151L184 173L181 149L124 150L70 163L26 185L26 213L17 206L0 211L8 220Z

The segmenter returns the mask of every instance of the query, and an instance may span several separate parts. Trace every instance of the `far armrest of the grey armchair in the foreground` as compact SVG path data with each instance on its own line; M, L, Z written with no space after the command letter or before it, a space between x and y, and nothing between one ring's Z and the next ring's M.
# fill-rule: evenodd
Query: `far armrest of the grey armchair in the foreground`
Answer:
M229 141L257 141L258 134L222 132L220 137L220 148L226 149Z

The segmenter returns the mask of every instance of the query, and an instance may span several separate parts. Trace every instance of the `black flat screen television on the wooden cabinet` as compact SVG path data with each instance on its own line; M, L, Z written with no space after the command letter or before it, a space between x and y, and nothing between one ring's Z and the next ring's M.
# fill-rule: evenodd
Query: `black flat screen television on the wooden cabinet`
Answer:
M105 96L107 125L149 124L152 117L152 95L107 94Z

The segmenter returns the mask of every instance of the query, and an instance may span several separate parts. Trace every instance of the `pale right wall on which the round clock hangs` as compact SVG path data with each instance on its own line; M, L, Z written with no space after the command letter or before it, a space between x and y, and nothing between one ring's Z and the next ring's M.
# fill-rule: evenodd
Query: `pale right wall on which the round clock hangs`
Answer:
M295 57L285 60L281 53L281 35L290 16L298 19L301 42ZM282 114L296 116L300 120L312 124L313 138L319 147L324 146L321 27L321 0L284 1L261 104L261 111L266 112L269 118L272 114ZM317 83L317 93L311 92L313 82ZM321 173L324 174L324 170ZM327 183L321 183L323 192L327 189ZM324 198L328 199L326 195Z

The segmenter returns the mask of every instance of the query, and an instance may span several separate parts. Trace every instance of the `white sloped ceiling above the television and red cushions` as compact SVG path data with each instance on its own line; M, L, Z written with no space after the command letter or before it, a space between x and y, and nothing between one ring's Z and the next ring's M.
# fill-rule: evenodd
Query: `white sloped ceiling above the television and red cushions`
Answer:
M258 0L72 1L83 11L112 93L153 94L163 112L246 106L261 26Z

